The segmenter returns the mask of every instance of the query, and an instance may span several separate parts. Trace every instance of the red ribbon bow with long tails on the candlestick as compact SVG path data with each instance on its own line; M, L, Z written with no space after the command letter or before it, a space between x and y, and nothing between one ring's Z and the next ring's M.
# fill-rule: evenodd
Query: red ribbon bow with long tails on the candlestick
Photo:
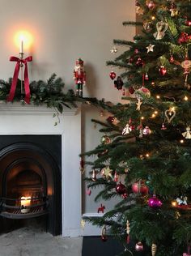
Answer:
M24 101L29 104L31 94L30 94L29 79L28 79L28 62L32 62L32 56L29 56L28 58L24 58L24 59L11 56L10 61L17 62L17 63L15 66L15 72L14 72L12 83L11 83L11 90L6 100L12 101L14 99L17 80L19 77L20 63L23 63L25 66L24 68L24 91L25 91Z

